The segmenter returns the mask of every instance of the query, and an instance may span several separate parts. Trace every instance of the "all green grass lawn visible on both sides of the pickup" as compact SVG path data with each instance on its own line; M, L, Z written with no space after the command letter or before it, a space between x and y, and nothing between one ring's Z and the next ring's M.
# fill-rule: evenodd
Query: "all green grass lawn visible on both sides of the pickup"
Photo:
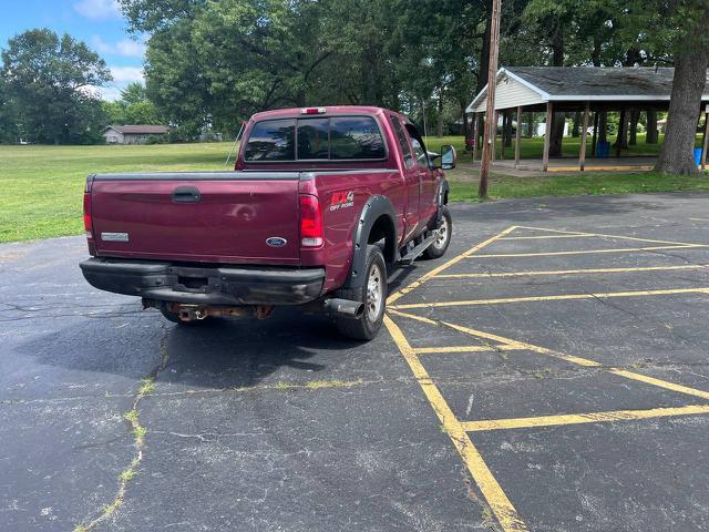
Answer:
M523 157L541 157L540 139L524 140ZM463 137L429 137L429 145L453 144L462 153ZM576 139L565 139L574 154ZM648 149L638 140L638 150ZM657 150L657 146L651 146ZM0 242L27 241L83 232L82 193L86 175L101 172L225 170L230 143L157 144L151 146L0 146ZM538 155L537 155L538 151ZM510 155L508 155L510 156ZM467 155L470 157L470 155ZM461 157L463 161L465 155ZM233 163L232 163L233 164ZM230 167L232 164L227 166ZM461 165L449 174L451 200L474 201L476 172ZM563 194L615 194L709 190L709 178L653 173L493 175L490 197L531 197Z

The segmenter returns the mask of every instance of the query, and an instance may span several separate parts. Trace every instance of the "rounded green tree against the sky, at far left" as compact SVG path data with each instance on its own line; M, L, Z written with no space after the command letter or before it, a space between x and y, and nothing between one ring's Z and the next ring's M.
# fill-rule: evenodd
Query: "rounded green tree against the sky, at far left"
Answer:
M2 51L6 94L21 127L35 142L89 143L101 140L104 119L92 88L111 80L104 61L69 34L29 30Z

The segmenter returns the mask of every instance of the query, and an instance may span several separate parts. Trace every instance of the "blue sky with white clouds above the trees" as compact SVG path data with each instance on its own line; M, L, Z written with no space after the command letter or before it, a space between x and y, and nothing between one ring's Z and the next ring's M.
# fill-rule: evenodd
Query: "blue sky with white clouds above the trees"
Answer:
M34 28L69 33L99 53L113 82L99 91L104 100L117 100L131 81L143 81L145 45L135 40L115 0L0 0L0 48L8 39Z

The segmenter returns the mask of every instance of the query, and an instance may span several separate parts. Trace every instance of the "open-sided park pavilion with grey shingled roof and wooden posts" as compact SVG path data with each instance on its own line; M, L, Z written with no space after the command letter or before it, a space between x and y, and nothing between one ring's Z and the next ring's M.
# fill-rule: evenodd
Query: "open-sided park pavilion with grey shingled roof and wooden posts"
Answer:
M629 111L667 111L672 92L671 68L593 68L593 66L506 66L497 71L495 89L496 131L499 113L516 110L515 167L520 164L520 143L522 113L546 113L544 152L542 170L549 168L549 139L552 116L554 113L580 112L580 149L578 170L584 171L586 164L586 145L590 113L593 121L593 150L596 153L598 137L598 113L620 112L620 129L625 134L626 113ZM473 115L474 139L473 158L477 155L477 115L485 113L487 105L487 85L475 96L466 112ZM701 110L706 115L703 132L703 152L701 165L706 166L707 143L709 134L709 72L701 99ZM616 156L620 156L621 143L616 146ZM494 150L493 150L494 157Z

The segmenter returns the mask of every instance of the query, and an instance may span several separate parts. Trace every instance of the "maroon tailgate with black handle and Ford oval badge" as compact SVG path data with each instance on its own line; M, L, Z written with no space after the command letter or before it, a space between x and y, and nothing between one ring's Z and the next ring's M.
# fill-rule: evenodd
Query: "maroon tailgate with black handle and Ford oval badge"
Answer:
M297 172L97 174L91 186L97 254L298 265L298 178Z

